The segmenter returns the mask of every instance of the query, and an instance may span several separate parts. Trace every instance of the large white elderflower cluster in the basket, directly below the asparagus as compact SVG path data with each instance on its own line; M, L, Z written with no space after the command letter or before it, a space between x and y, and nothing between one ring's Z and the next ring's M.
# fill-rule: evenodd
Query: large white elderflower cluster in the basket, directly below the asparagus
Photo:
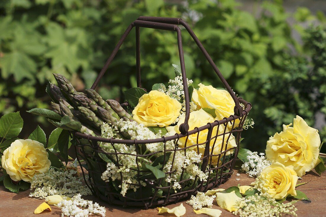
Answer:
M132 121L124 121L119 120L117 122L117 126L121 132L127 132L132 140L147 140L147 139L157 139L160 138L160 133L155 134L148 128L146 128L143 124L138 124L137 122ZM115 130L115 129L113 129ZM102 125L102 137L104 138L111 138L112 135L112 127L110 124L103 124ZM170 149L173 147L173 141L166 142L166 148ZM138 166L136 162L136 147L135 145L126 145L126 144L109 144L109 143L100 143L103 150L108 153L124 153L118 155L118 163L119 167L111 162L107 164L106 170L102 173L102 180L105 182L110 182L110 180L121 181L119 188L121 188L121 194L123 196L126 195L128 189L132 189L134 191L139 188L138 184L145 186L146 183L143 181L138 181L138 166L141 165L143 162L148 162L147 159L143 157L138 157ZM156 152L164 150L164 143L149 143L145 144L146 150L149 152ZM128 155L131 154L131 155ZM122 180L121 180L122 178Z

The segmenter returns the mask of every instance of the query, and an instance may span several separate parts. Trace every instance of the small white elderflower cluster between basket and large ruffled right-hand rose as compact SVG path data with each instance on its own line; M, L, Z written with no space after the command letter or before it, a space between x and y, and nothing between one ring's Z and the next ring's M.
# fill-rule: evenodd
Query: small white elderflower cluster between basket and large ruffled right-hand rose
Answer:
M257 177L261 171L271 165L271 161L267 160L264 153L258 155L257 152L249 152L248 161L244 162L241 169L250 177Z

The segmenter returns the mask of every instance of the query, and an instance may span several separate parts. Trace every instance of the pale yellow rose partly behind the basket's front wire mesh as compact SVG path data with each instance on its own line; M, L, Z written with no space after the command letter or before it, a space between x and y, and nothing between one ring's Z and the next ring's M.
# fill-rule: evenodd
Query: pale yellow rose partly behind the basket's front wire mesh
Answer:
M185 117L181 117L180 120L178 121L178 124L176 126L173 127L167 127L166 129L168 130L170 135L174 135L175 133L180 133L179 131L179 127L181 124L183 124L185 122ZM214 118L212 117L212 115L208 114L207 112L205 112L204 110L200 109L198 111L194 111L191 112L189 115L189 121L188 121L188 125L189 125L189 131L195 129L196 127L201 127L206 125L207 123L212 123L214 122ZM219 129L218 129L218 135L219 134L223 134L224 133L224 125L220 125ZM214 127L213 132L212 132L212 137L216 136L216 132L217 132L217 126ZM226 132L228 132L228 130L226 130ZM207 134L208 134L208 129L202 130L198 133L194 133L187 137L182 137L179 139L178 144L179 146L184 147L185 146L185 142L186 146L191 146L194 145L192 147L190 147L189 149L193 149L195 151L197 151L197 145L199 148L199 153L204 154L205 151L205 147L206 147L206 140L207 140ZM226 140L228 138L230 134L226 134L225 139L224 139L224 144L223 144L223 148L222 148L222 143L223 143L223 135L218 136L214 139L211 139L210 141L210 154L213 148L213 155L218 155L221 153L221 148L222 151L225 150L225 143ZM197 143L197 137L198 137L198 143ZM232 147L236 147L236 142L235 142L235 137L231 134L230 135L230 139L227 145L227 149L232 148ZM226 155L230 155L231 153L233 153L233 149L231 151L226 152ZM212 157L212 164L213 165L217 165L217 160L218 160L218 156L213 156Z

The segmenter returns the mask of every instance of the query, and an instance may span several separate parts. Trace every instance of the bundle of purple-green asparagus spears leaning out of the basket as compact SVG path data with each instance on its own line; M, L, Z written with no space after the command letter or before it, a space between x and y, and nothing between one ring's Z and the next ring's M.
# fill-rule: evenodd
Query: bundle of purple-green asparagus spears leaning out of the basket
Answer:
M63 75L53 75L58 86L50 84L48 94L53 100L52 110L62 117L61 122L49 120L55 126L96 136L100 135L103 122L117 126L121 118L134 121L119 102L111 99L105 101L93 89L86 89L85 93L77 92ZM125 132L120 134L130 138Z

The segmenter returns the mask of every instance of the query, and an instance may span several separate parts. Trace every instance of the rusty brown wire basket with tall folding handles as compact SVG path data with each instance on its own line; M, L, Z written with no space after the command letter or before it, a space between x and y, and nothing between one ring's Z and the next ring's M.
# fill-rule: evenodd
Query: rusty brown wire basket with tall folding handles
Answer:
M230 117L224 117L222 120L216 120L213 123L207 123L204 126L199 128L191 129L189 131L188 120L189 120L189 94L188 94L188 87L186 83L186 73L185 73L185 61L184 61L184 54L182 48L182 36L181 30L178 25L182 25L194 39L195 43L198 45L199 49L202 51L208 62L213 67L215 73L222 81L223 85L227 89L227 91L232 96L232 99L235 102L234 107L234 115L230 115ZM137 85L141 87L141 67L140 67L140 27L145 28L153 28L153 29L161 29L161 30L169 30L177 32L177 41L178 41L178 48L179 48L179 56L180 56L180 63L181 63L181 71L182 71L182 78L184 84L184 92L185 92L185 105L186 105L186 113L185 113L185 122L180 126L180 134L176 134L169 137L162 137L159 139L152 139L152 140L118 140L118 139L106 139L101 137L94 137L90 135L85 135L79 132L75 132L73 134L73 141L75 144L76 154L78 156L78 161L80 162L80 157L87 162L87 170L88 170L88 180L86 180L84 171L82 169L85 182L88 183L89 188L91 189L92 193L97 197L107 201L110 204L116 205L123 205L123 206L135 206L135 207L142 207L148 209L149 207L154 206L162 206L172 202L178 202L181 200L188 199L191 195L196 194L198 191L205 192L208 189L217 187L221 183L224 183L228 180L230 175L233 173L233 166L235 160L238 155L238 148L239 148L239 140L241 138L241 131L242 126L244 124L244 120L248 115L248 112L251 109L251 104L244 101L241 98L237 98L232 89L230 88L229 84L220 73L218 68L216 67L215 63L213 62L212 58L209 56L205 48L200 43L197 36L191 30L189 25L182 19L179 18L163 18L163 17L139 17L137 20L132 22L128 28L126 29L125 33L122 35L122 38L114 48L111 56L106 61L103 69L97 76L92 89L95 89L99 80L104 75L105 71L108 69L109 64L115 57L116 53L118 52L120 46L124 42L126 36L130 33L131 29L135 27L136 29L136 67L137 67ZM121 104L126 110L129 108L128 103ZM235 123L237 122L237 125ZM223 129L224 127L224 129ZM229 129L226 131L226 129ZM216 130L217 129L217 130ZM223 129L222 133L218 133L220 130ZM198 136L200 132L207 131L207 139L205 142L198 144ZM216 134L215 134L216 130ZM206 132L205 131L205 132ZM213 133L214 132L214 133ZM196 176L194 179L190 179L189 177L183 177L184 170L180 176L179 184L181 185L180 189L173 190L172 183L168 186L162 186L162 178L160 179L151 179L147 180L146 186L141 186L141 183L136 183L139 189L136 192L136 196L134 194L133 197L128 195L122 196L118 191L114 189L111 182L104 182L101 180L102 173L106 170L107 162L103 159L103 156L113 156L116 157L117 162L116 166L122 166L119 163L118 155L124 155L124 153L118 153L117 151L112 153L105 152L98 142L106 142L109 144L126 144L126 145L140 145L140 144L148 144L148 143L157 143L163 142L164 143L164 150L160 151L163 153L164 160L163 166L167 162L168 154L169 156L173 156L172 165L174 162L174 157L176 152L182 152L185 154L187 147L178 146L174 149L167 149L166 142L174 140L175 144L182 138L186 140L190 135L197 134L197 146L204 145L204 153L201 157L201 162L198 164L201 168L201 171L205 172L208 175L207 180L200 181ZM227 144L229 142L230 136L234 135L235 141L237 146L228 148ZM215 145L216 139L222 141L220 153L213 154L213 149ZM233 138L233 137L232 137ZM210 151L210 145L213 147L212 151ZM90 151L91 150L91 151ZM196 150L196 149L195 149ZM137 149L136 149L137 152ZM229 154L227 154L229 153ZM230 154L231 153L231 154ZM150 153L148 155L153 155L155 153ZM148 156L146 155L146 156ZM145 155L141 155L137 152L136 163L139 163L139 157L144 157ZM212 163L212 158L217 159L217 165ZM163 168L163 167L162 167ZM138 168L138 174L142 171ZM172 173L173 171L167 171L166 174ZM139 176L138 176L139 178ZM191 183L191 184L189 184ZM119 183L118 183L119 184ZM122 184L122 179L121 183ZM151 190L151 194L145 194L144 191L148 192Z

